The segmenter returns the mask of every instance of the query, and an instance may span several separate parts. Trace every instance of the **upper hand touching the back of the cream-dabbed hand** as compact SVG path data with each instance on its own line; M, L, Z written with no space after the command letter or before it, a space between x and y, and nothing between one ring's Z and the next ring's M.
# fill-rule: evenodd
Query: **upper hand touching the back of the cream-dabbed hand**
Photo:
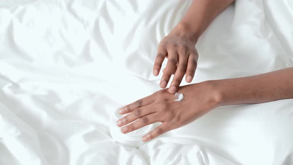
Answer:
M158 76L162 63L168 59L160 81L160 87L165 88L174 74L174 79L170 85L169 92L175 93L184 77L190 83L194 77L198 52L195 49L197 39L194 34L186 29L175 28L165 38L161 40L157 50L157 56L153 65L153 75Z

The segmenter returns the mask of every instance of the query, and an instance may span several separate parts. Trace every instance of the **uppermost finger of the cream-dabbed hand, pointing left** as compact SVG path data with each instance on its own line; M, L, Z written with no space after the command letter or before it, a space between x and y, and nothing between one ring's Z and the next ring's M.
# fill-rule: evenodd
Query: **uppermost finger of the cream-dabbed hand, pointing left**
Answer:
M139 99L131 104L128 104L122 108L119 109L119 114L126 114L126 113L130 113L133 110L135 110L136 108L140 108L143 106L146 106L148 104L151 104L154 102L154 97L153 95L149 95L147 97L144 97L142 99Z

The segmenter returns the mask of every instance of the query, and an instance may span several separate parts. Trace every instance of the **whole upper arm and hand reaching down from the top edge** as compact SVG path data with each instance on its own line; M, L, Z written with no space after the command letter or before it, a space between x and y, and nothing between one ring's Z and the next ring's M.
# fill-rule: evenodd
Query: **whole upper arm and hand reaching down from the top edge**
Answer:
M174 79L169 92L175 93L184 77L190 83L194 77L198 53L195 44L209 24L234 0L193 0L185 16L159 43L153 75L157 76L166 57L168 62L160 81L165 88L170 77ZM177 70L178 68L178 70Z

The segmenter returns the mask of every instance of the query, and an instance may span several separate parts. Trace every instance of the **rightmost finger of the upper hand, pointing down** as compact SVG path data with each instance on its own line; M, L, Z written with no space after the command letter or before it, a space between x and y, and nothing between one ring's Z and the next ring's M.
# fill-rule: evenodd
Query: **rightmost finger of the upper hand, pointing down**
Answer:
M191 83L194 78L194 74L197 68L197 56L194 53L190 53L188 57L187 70L185 74L185 81Z

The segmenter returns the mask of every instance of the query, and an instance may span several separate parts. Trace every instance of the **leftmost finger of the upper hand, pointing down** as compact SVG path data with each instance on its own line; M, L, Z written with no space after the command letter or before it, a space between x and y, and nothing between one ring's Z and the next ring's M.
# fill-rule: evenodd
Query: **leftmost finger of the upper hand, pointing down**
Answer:
M167 55L167 51L163 46L158 47L157 55L154 60L153 64L153 71L152 74L153 76L158 76L162 67L162 63Z

